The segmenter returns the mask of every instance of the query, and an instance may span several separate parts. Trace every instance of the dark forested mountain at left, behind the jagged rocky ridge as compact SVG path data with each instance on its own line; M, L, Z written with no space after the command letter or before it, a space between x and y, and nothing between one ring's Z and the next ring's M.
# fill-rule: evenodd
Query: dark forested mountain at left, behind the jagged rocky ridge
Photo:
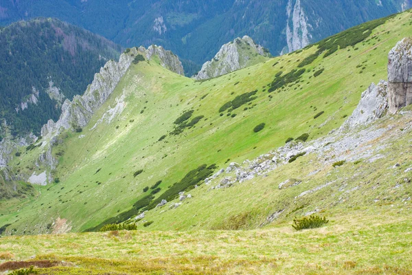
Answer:
M82 94L121 47L57 19L20 21L0 30L0 136L40 134L65 99Z

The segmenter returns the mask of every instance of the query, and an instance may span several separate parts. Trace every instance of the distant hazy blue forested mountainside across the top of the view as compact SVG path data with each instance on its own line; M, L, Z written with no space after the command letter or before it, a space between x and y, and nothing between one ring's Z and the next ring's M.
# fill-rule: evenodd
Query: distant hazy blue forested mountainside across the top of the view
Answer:
M249 35L276 56L410 7L409 0L19 0L0 3L0 24L56 17L124 47L163 45L192 76L236 37Z

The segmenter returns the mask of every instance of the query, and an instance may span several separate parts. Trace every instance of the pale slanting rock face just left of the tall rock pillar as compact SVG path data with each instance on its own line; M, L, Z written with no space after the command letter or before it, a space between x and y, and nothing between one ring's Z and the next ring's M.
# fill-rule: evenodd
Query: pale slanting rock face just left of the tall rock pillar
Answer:
M341 129L353 128L358 125L366 125L382 118L388 108L387 82L380 80L378 85L372 83L362 93L361 101L350 118L342 125Z

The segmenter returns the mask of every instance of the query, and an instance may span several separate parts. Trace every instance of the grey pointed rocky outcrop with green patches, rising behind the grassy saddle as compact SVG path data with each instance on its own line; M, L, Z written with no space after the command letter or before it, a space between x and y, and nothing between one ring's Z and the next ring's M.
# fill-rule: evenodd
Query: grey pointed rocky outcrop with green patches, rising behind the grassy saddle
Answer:
M271 54L261 45L256 44L249 36L237 38L223 45L211 61L203 64L202 69L194 76L196 80L209 79L254 65Z

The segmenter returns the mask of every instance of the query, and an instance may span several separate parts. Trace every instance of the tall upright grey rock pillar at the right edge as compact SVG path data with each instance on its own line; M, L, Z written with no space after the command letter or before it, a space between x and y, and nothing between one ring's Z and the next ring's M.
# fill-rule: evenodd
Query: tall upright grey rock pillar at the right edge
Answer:
M412 103L412 39L405 38L389 52L389 112Z

